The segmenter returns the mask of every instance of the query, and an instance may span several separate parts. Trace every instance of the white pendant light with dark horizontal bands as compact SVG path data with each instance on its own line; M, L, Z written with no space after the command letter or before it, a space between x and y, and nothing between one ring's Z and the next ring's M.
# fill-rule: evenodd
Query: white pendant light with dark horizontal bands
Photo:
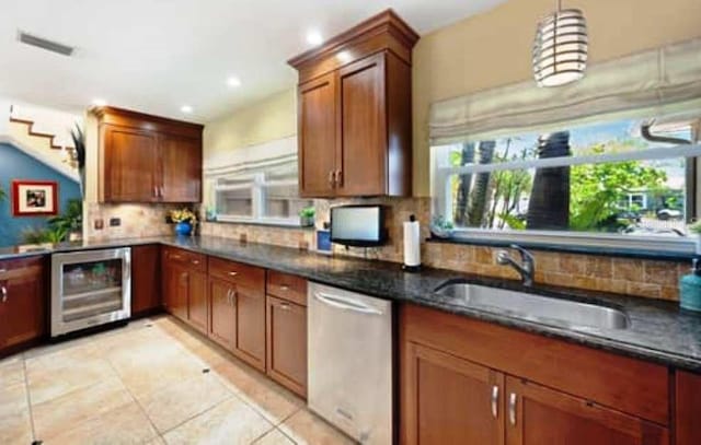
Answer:
M538 86L560 86L584 77L587 68L587 21L578 9L558 10L538 23L533 42L533 77Z

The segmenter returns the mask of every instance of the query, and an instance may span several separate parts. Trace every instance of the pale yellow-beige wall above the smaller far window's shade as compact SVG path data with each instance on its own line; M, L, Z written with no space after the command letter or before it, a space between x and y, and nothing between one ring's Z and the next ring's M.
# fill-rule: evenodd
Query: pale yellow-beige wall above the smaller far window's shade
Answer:
M297 134L296 90L273 94L205 125L204 157Z

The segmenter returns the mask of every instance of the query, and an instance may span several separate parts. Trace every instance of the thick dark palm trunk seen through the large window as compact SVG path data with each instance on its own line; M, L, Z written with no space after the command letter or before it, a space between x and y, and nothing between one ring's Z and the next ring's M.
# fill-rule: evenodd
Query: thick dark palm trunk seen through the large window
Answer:
M570 156L570 132L559 131L538 138L538 159ZM570 227L570 167L536 169L526 215L528 229Z

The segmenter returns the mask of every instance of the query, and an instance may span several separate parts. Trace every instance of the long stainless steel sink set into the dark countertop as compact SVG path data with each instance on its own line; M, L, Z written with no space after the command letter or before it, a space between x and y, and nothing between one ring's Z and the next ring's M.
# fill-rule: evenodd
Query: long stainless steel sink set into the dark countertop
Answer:
M544 325L595 329L625 329L630 326L625 313L597 304L460 282L443 284L436 292L471 307Z

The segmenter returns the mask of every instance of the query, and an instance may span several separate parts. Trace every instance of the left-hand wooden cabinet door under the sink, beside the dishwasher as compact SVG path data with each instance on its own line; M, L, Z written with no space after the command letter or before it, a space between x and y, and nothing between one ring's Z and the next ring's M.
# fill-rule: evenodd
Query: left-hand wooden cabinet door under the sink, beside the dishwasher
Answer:
M402 443L504 443L501 373L421 344L403 348Z

